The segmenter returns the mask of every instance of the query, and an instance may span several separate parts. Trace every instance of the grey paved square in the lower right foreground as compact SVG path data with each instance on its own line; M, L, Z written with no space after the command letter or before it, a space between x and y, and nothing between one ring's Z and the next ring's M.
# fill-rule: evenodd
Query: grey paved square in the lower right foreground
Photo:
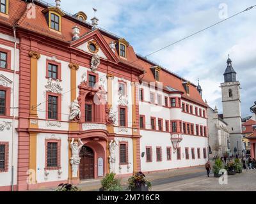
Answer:
M219 178L211 175L180 180L153 186L153 191L256 191L256 170L244 170L243 173L228 175L228 184L220 185Z

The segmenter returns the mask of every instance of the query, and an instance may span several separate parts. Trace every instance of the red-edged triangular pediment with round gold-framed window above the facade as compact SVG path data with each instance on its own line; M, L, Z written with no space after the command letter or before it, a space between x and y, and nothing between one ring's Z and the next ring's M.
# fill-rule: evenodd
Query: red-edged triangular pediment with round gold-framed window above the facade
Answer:
M103 59L118 62L118 58L97 29L72 41L71 46L88 54L97 54Z

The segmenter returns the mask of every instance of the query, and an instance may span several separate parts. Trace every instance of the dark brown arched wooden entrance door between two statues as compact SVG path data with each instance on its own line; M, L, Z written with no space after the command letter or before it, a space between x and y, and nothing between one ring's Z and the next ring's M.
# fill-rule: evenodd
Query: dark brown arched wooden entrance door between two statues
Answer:
M80 179L94 179L93 150L90 147L83 146L80 150L80 157Z

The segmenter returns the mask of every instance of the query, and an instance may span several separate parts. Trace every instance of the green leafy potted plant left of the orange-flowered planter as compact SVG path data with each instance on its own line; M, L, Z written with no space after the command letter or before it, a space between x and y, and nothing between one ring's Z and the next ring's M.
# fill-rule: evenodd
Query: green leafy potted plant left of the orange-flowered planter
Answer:
M106 177L101 180L102 187L100 191L122 191L121 180L115 178L115 173L108 173Z

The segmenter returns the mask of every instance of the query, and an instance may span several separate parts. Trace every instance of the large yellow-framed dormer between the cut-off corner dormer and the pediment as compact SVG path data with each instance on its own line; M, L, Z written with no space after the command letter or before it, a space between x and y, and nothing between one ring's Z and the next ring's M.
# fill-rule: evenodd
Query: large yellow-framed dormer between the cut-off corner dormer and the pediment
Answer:
M65 13L58 7L48 7L42 12L45 14L49 29L61 33L61 17L63 17Z

